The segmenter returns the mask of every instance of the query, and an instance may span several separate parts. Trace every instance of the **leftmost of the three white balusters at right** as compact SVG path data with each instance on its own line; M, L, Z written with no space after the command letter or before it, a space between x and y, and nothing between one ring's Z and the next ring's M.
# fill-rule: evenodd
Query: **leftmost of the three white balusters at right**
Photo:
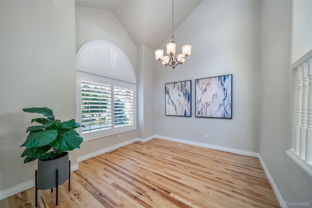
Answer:
M299 155L300 150L300 129L301 129L301 97L302 97L302 66L297 67L297 114L296 114L296 139L295 152Z

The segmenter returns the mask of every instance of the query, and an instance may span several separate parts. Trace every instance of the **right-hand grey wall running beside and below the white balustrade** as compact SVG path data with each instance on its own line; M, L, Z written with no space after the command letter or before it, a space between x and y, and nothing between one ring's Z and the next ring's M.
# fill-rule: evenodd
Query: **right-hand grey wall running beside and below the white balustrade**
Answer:
M285 153L292 135L291 31L292 1L262 1L259 153L284 201L312 204L311 177Z

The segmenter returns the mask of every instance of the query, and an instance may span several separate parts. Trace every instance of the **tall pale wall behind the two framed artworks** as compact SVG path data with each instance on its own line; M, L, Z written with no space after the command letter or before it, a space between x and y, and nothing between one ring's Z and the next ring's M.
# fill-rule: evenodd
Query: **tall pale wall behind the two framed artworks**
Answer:
M175 69L155 60L157 135L258 152L259 20L260 1L203 1L176 29L177 53L191 44L192 54ZM195 79L226 74L233 74L233 119L195 118ZM185 80L192 80L192 117L165 116L165 83Z

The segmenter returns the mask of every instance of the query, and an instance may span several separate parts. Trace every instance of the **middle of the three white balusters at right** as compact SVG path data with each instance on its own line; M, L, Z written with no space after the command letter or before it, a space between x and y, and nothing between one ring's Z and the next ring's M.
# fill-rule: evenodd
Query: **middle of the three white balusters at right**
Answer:
M300 157L306 158L308 129L308 62L302 64L302 108L301 108L301 138Z

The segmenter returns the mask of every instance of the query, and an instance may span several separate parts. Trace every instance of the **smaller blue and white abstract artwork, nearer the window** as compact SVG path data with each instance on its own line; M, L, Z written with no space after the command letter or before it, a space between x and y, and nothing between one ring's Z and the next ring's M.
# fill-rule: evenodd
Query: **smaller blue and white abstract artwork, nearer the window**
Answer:
M191 80L167 83L166 116L191 116Z

